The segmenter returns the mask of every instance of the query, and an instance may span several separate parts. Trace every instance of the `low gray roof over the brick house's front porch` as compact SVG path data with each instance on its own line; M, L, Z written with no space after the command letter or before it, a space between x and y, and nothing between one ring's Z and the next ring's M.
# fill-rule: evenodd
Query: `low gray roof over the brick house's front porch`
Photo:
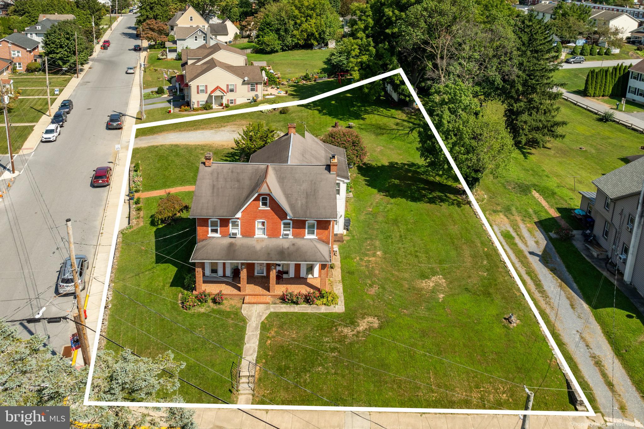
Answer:
M328 244L316 239L211 237L194 247L190 262L217 260L329 264L330 258Z

